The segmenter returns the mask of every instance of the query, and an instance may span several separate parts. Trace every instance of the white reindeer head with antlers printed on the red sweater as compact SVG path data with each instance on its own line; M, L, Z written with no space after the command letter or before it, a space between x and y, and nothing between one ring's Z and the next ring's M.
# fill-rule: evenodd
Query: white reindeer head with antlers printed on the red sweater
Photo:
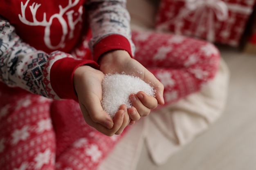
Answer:
M64 43L65 38L68 33L68 26L70 28L70 33L69 33L68 38L71 39L74 37L75 25L78 22L82 22L83 7L82 6L79 7L79 10L78 10L79 16L76 20L73 19L74 10L70 10L72 7L74 7L78 4L79 0L74 0L74 2L72 2L72 0L69 0L67 7L64 7L64 8L61 5L59 5L59 13L55 13L54 15L52 15L49 18L49 21L46 20L46 13L43 13L42 21L38 21L36 19L36 12L37 12L38 8L41 6L41 4L34 2L32 5L29 6L29 9L32 14L33 22L28 21L25 16L25 10L27 9L29 1L30 0L27 0L25 4L23 4L23 2L21 2L21 14L18 15L20 21L23 22L24 24L27 24L30 26L45 26L45 34L44 34L45 45L49 49L53 49L53 50L58 49L58 48L64 48L65 47L65 43ZM70 11L68 11L68 10L70 10ZM63 18L64 14L67 15L68 23ZM58 21L61 23L62 32L63 32L61 41L56 46L53 46L51 43L51 40L50 40L50 35L51 35L50 27L51 27L52 21L54 19L58 19Z

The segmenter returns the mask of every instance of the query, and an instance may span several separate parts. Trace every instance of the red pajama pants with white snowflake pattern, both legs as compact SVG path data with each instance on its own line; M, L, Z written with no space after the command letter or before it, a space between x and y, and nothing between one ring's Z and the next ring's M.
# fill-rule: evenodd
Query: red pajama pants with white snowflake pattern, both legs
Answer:
M164 84L165 106L199 91L218 70L220 54L208 42L150 32L133 32L132 40L135 59ZM78 57L88 53L83 44ZM72 100L0 84L1 170L97 170L126 131L107 137L85 123Z

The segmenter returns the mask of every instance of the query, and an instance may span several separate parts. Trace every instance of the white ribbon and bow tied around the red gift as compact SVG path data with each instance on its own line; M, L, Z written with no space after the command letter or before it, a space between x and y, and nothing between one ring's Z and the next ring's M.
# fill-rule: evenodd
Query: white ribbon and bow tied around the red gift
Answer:
M178 0L185 2L185 8L181 9L174 20L169 20L158 26L159 30L165 30L168 24L174 24L176 34L181 34L183 19L193 13L192 23L195 27L195 35L199 36L200 27L207 22L208 30L206 39L210 42L215 40L215 16L218 21L225 21L229 18L229 10L250 14L252 9L239 4L229 4L222 0ZM205 20L204 18L207 18ZM186 18L187 19L187 18Z

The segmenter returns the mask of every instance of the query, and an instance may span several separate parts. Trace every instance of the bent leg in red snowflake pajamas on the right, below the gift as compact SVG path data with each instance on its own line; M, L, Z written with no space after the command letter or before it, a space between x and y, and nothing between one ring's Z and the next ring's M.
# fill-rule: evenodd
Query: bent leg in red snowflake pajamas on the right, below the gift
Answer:
M212 79L220 53L211 43L181 35L132 33L135 59L164 84L165 105L197 92Z

